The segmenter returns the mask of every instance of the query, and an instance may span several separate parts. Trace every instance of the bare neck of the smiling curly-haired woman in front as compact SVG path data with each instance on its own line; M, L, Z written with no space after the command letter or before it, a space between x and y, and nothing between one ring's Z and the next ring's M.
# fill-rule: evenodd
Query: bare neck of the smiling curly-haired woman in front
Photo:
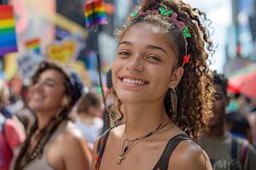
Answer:
M166 118L164 105L124 103L126 136L135 139L154 131Z

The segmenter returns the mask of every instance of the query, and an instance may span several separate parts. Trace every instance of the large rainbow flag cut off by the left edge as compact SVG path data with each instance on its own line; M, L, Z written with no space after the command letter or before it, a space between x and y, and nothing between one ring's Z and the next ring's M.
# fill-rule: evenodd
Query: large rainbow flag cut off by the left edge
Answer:
M17 51L14 9L0 5L0 56Z

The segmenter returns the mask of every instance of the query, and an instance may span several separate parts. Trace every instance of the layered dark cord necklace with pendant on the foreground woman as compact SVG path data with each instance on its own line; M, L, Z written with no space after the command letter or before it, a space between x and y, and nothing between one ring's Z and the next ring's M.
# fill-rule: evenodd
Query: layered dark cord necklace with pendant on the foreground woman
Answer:
M137 137L136 139L128 139L128 137L126 135L127 133L126 133L126 125L125 125L125 140L124 140L124 142L122 144L122 147L121 147L121 153L119 153L119 156L117 158L117 164L121 165L122 161L125 160L125 157L127 156L127 154L131 151L132 148L134 148L136 146L136 144L138 144L143 139L148 138L152 134L158 132L163 127L166 127L167 123L164 124L165 120L166 120L166 118L164 118L163 122L160 122L159 126L156 127L154 129L154 131L148 132L143 136Z

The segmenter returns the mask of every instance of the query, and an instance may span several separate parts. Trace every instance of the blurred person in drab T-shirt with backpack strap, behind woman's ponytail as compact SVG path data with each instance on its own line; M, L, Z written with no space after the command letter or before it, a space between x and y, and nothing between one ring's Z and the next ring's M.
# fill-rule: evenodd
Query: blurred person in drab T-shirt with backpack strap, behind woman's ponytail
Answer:
M199 140L203 150L212 162L213 170L254 170L256 168L256 150L247 139L232 136L225 132L225 107L229 104L227 96L228 80L224 75L213 72L216 95L214 116L209 122L209 131Z

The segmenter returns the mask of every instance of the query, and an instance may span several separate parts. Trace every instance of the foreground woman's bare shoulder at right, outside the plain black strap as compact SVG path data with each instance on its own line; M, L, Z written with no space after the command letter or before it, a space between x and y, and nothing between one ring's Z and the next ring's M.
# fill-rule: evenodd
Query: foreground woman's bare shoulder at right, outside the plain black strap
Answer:
M212 169L206 152L193 140L183 140L177 145L172 153L172 159L169 160L168 169L172 169L171 167L176 167L177 170Z

